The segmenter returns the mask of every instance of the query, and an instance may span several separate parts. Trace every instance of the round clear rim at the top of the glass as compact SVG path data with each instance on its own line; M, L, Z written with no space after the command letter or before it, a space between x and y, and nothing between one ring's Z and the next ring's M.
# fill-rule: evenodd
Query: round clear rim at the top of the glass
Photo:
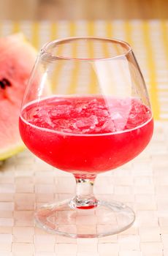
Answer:
M112 57L104 57L104 58L75 58L75 57L68 57L68 56L61 56L61 55L55 55L53 53L50 53L50 51L47 49L50 47L50 45L56 44L56 45L63 45L66 44L66 42L71 42L75 40L80 39L96 39L96 40L102 40L112 43L118 43L118 45L121 45L122 47L126 47L126 53L117 54L116 56ZM49 41L43 45L41 49L41 53L47 54L47 56L51 57L53 60L68 60L68 61L105 61L105 60L112 60L112 59L119 59L123 56L127 56L129 53L132 52L131 46L128 42L125 42L121 39L111 39L109 37L65 37L63 39L55 39L52 41Z

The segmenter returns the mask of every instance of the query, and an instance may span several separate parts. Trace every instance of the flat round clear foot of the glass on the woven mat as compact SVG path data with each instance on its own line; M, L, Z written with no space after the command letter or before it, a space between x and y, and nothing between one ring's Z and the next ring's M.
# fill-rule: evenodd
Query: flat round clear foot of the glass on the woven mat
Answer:
M95 208L72 208L71 201L45 204L35 214L37 225L49 233L71 238L98 238L120 233L135 219L123 203L99 201Z

